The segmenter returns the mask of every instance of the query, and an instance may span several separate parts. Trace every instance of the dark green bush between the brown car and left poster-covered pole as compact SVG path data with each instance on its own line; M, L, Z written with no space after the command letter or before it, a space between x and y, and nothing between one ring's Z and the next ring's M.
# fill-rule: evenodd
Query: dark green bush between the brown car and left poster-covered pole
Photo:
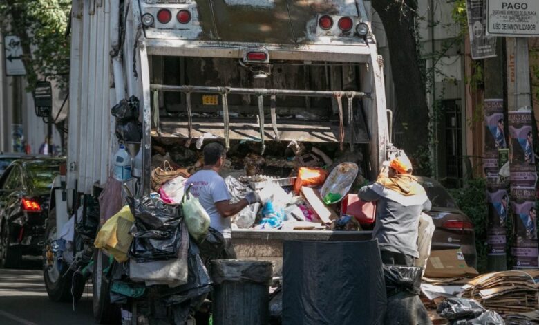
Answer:
M486 228L489 223L489 210L486 205L486 182L483 178L470 180L467 187L448 189L460 210L471 219L475 230L477 249L477 270L486 272Z

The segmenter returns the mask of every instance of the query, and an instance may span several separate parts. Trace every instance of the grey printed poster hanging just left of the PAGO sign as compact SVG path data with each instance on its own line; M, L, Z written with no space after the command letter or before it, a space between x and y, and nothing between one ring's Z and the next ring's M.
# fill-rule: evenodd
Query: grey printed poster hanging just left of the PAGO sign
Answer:
M486 1L466 0L472 59L496 56L496 37L486 34Z

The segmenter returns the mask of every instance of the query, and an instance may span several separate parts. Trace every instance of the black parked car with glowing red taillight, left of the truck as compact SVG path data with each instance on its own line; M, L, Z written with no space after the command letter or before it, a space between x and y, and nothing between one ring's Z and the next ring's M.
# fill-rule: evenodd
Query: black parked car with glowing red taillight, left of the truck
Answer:
M0 177L0 265L17 267L22 255L40 255L50 189L65 158L21 158Z

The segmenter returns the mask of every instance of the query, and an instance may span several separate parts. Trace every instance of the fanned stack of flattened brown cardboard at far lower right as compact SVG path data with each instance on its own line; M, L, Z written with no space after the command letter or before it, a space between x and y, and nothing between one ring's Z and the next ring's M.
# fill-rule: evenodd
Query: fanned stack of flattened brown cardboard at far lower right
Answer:
M479 301L498 313L539 309L539 270L512 270L476 277L464 286L462 297Z

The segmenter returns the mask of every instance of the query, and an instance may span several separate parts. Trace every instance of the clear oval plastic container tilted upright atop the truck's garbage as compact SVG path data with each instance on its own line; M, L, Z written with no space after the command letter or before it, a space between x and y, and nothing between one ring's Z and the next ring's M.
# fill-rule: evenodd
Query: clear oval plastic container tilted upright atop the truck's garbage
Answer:
M359 168L354 163L341 163L335 167L320 191L320 196L325 204L330 205L340 202L356 180Z

